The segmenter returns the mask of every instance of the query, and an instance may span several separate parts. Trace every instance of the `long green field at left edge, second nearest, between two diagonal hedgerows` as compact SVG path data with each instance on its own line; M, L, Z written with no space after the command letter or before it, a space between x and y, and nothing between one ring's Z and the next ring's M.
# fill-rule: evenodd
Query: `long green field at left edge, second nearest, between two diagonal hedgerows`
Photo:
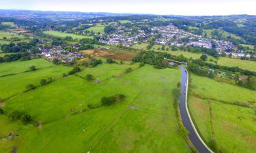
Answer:
M29 71L27 73L19 73L0 78L0 99L6 99L13 95L17 95L27 90L28 84L40 86L41 79L53 78L58 80L62 78L63 73L68 73L71 67L53 66L37 71Z

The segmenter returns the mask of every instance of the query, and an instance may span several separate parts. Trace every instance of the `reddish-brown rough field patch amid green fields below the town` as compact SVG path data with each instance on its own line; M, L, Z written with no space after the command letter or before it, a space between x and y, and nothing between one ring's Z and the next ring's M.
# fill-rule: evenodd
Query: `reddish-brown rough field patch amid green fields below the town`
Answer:
M109 51L109 50L84 50L83 54L89 54L91 56L113 58L119 61L131 61L134 54L125 51Z

